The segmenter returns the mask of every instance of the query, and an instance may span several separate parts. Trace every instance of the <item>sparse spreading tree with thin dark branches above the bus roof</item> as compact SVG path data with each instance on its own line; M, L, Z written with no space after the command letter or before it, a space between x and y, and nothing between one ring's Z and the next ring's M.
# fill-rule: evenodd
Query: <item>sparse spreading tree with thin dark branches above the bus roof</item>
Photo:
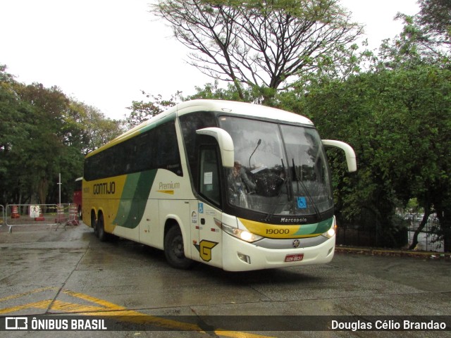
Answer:
M191 65L232 82L241 100L240 84L288 89L289 77L338 62L362 32L338 0L167 0L152 13L193 51Z

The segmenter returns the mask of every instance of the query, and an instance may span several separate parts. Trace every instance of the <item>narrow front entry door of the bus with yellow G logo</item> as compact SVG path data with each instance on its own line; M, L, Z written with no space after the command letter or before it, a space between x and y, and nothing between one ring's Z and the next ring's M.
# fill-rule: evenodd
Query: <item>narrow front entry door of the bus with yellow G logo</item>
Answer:
M194 246L199 251L200 261L221 266L222 230L218 223L221 222L222 213L218 158L216 145L200 146L198 192L201 199L197 203L198 239Z

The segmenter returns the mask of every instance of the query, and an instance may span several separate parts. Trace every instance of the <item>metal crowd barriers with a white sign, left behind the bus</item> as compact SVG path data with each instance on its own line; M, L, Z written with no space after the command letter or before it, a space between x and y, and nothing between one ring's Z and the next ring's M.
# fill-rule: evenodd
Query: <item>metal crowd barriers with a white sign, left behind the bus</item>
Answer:
M13 227L47 225L78 225L75 204L8 204L4 210L4 224L12 232Z

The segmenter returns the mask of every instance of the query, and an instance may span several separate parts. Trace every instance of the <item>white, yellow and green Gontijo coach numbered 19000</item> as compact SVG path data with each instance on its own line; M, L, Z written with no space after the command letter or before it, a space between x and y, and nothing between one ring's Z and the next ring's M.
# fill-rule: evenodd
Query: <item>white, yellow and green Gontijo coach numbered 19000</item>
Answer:
M335 249L330 170L301 115L234 101L186 101L85 157L82 213L101 241L164 251L175 268L228 271L328 263Z

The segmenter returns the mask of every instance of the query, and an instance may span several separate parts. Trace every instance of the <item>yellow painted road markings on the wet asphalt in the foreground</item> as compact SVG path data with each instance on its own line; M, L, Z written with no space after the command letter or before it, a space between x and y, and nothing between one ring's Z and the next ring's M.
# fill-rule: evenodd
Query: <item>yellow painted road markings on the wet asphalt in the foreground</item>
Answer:
M35 289L30 292L23 292L22 294L15 294L12 296L0 299L1 301L7 301L10 299L18 299L23 296L28 296L30 294L36 294L39 292L44 292L51 289L58 289L56 287L45 287L42 289ZM27 303L20 306L13 306L10 308L0 308L0 314L17 312L20 310L25 310L26 308L40 308L48 309L47 311L61 311L63 313L76 313L78 315L97 315L97 316L114 316L116 320L122 320L128 323L136 324L151 324L158 327L166 327L169 330L183 330L183 331L197 331L201 333L206 333L202 330L199 325L192 323L178 322L177 320L170 320L165 318L160 318L154 315L147 315L134 310L128 310L123 306L119 306L115 303L105 301L104 299L99 299L87 294L82 294L80 292L73 292L70 290L63 290L63 294L68 294L76 299L82 299L84 301L89 301L91 303L97 304L97 306L84 305L80 303L70 303L68 301L59 301L53 299L47 299L43 301L36 301L33 303ZM268 336L262 336L260 334L252 334L246 332L236 332L228 331L223 329L218 329L214 331L223 337L231 338L268 338Z

